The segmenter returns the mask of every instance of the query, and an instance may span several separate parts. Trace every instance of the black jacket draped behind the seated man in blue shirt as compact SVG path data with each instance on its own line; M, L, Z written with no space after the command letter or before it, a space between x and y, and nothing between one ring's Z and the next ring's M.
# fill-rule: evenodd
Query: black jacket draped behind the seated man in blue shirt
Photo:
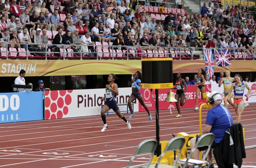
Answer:
M218 168L233 168L233 163L241 168L242 158L245 158L246 154L243 126L240 123L233 124L226 131L220 145L213 150L213 154Z

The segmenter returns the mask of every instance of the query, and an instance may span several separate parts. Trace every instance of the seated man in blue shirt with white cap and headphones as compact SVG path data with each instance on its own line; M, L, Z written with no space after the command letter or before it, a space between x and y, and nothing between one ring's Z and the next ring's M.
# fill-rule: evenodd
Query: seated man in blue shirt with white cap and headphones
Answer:
M209 97L209 101L207 103L210 103L212 109L210 109L207 113L203 134L211 132L212 134L215 135L215 140L212 142L211 148L216 148L223 139L227 129L230 128L231 125L233 125L233 118L232 115L230 114L230 111L228 111L228 109L221 104L221 94L218 91L207 93L207 97ZM190 140L191 149L195 148L195 143L197 142L198 138L199 136L192 138ZM197 148L193 153L193 158L199 159L200 151L204 151L207 148L208 146ZM211 159L212 150L209 152L207 156L208 163L204 168L207 168ZM194 166L192 168L197 167L198 166ZM210 168L214 168L214 165L211 165Z

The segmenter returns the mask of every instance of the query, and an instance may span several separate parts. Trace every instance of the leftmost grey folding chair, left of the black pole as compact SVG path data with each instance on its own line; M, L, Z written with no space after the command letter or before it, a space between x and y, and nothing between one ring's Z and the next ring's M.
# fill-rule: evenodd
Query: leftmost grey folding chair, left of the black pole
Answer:
M154 151L155 151L156 148L157 148L157 141L154 140L154 139L148 139L148 140L144 140L144 141L140 142L140 144L138 145L134 155L131 157L128 165L126 166L126 168L130 168L131 162L135 159L135 157L137 155L151 153L151 157L150 157L150 159L148 161L148 164L146 166L146 168L148 168L152 159L153 159Z

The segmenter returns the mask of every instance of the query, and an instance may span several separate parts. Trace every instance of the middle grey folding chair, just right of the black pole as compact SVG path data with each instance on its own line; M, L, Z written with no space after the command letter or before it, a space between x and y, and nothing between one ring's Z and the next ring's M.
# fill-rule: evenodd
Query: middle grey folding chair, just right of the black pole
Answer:
M168 168L178 168L176 166L176 164L177 164L178 159L180 158L181 150L182 150L182 148L185 144L185 141L186 140L183 137L174 137L174 138L172 138L168 142L168 144L166 145L166 148L164 149L163 153L160 155L157 163L156 164L151 164L149 166L149 168L157 168L158 166L162 165L162 164L159 164L159 163L160 163L161 159L163 158L163 156L165 155L166 152L179 150L179 154L177 155L177 157L176 157L176 159L173 163L173 166L168 166Z

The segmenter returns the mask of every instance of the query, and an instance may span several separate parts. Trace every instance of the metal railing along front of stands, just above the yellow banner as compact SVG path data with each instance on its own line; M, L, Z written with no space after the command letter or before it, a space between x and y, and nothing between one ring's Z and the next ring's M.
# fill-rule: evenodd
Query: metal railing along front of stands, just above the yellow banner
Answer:
M9 46L14 43L6 43L6 46ZM17 44L17 43L15 43ZM154 47L154 46L109 46L109 45L46 45L41 51L29 51L31 50L31 44L20 43L20 45L25 45L26 49L16 49L16 48L1 48L1 59L14 60L14 59L23 59L23 60L101 60L101 59L110 59L110 60L140 60L142 58L161 58L169 57L175 60L204 60L203 48L195 47ZM35 44L33 44L35 45ZM60 47L60 52L56 52L51 46ZM81 48L81 46L91 46L93 51L84 52L84 51L73 51L72 49L63 49L69 48L70 46ZM24 46L23 46L24 47ZM34 47L35 48L35 47ZM90 48L90 47L89 47ZM161 48L161 49L160 49ZM205 48L207 49L207 48ZM212 49L212 48L208 48ZM224 48L216 48L217 50L224 50ZM256 55L247 54L246 48L229 48L231 60L256 60ZM253 53L256 50L253 49ZM212 55L215 59L214 51ZM6 56L6 57L5 57ZM253 57L251 57L253 56Z

